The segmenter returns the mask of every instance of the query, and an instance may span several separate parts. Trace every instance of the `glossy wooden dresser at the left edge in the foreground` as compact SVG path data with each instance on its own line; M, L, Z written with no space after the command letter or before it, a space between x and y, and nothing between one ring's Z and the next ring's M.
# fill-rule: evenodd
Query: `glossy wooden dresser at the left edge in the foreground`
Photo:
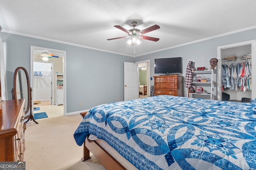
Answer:
M24 99L0 103L0 161L23 161Z

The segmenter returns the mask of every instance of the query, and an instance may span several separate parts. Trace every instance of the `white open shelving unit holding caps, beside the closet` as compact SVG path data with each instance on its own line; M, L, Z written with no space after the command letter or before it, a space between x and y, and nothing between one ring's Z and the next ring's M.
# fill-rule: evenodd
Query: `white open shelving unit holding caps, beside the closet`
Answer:
M210 82L194 82L192 81L192 86L201 86L202 88L210 86L210 92L207 93L189 93L190 98L194 98L195 95L209 96L210 100L213 100L214 96L214 70L204 70L204 71L192 71L193 76L202 75L206 78L211 78ZM198 76L196 76L198 77ZM205 88L204 88L205 89Z

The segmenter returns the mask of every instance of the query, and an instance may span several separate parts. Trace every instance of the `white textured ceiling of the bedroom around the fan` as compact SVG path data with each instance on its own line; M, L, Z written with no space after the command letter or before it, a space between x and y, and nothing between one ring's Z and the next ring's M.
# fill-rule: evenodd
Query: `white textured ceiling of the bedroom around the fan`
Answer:
M128 56L140 56L184 43L255 27L256 0L0 0L3 32L50 39ZM159 41L129 46L131 21Z

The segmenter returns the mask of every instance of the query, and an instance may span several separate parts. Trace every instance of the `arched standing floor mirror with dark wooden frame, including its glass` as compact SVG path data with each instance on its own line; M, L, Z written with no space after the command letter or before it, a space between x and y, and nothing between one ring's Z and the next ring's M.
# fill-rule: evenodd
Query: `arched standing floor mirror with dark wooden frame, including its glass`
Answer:
M32 98L31 98L32 88L30 88L30 82L29 82L28 72L26 68L24 67L16 68L16 70L14 71L13 85L14 85L14 88L12 89L12 99L13 100L25 99L24 119L28 119L25 123L27 123L29 120L32 120L36 124L38 124L38 122L34 119L34 115L32 112ZM28 113L28 111L30 111L30 114L26 116L26 113Z

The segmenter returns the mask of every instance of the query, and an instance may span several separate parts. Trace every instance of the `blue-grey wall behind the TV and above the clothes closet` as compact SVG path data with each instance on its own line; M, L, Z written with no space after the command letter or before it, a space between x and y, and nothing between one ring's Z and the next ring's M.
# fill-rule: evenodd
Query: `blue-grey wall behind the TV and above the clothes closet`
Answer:
M181 47L176 47L157 53L143 55L135 58L135 61L150 60L150 77L153 78L154 74L154 59L156 58L168 58L168 57L182 57L182 72L183 76L186 76L186 67L189 61L193 61L194 68L205 66L210 67L210 59L217 58L217 47L223 45L229 45L234 43L240 43L244 41L250 41L256 39L256 29L250 29L239 33L225 35L198 43L192 43ZM161 41L161 39L159 40ZM216 74L216 70L215 70ZM184 82L184 81L183 81ZM154 78L150 80L150 86L154 86ZM187 91L183 87L183 96L187 96Z

